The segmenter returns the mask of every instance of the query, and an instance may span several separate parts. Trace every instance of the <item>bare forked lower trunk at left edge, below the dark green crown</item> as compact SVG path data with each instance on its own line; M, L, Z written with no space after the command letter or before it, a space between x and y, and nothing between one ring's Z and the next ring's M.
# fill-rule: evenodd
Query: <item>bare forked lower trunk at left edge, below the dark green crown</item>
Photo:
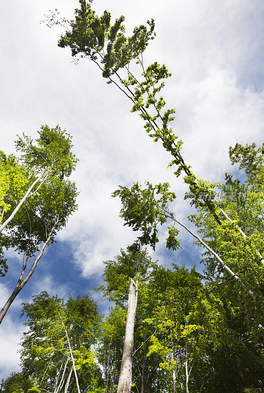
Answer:
M38 256L35 258L33 265L31 266L29 272L27 273L26 277L24 278L24 280L22 280L23 275L24 275L24 266L23 266L23 270L20 276L20 279L17 283L17 285L15 286L15 289L13 290L11 296L9 297L9 299L7 300L7 302L5 303L5 305L3 306L3 308L0 311L0 324L7 312L7 310L9 309L9 307L11 306L11 304L13 303L13 301L15 300L15 298L17 297L17 295L19 294L19 292L21 291L21 289L24 287L24 285L27 283L27 281L30 279L30 277L32 276L32 274L34 273L34 270L38 264L38 261L40 260L40 258L42 257L44 250L46 248L46 246L48 245L48 242L51 239L51 235L55 230L56 225L58 224L58 219L56 219L56 222L53 226L53 228L51 229L51 231L48 234L47 240L46 242L43 244Z

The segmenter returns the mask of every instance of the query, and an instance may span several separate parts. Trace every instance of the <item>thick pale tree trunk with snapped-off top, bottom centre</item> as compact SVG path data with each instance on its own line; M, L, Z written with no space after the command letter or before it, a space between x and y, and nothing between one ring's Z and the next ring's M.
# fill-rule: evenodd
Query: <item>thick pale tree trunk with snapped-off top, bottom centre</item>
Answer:
M132 354L134 348L134 326L138 302L138 280L129 279L129 295L125 327L124 347L117 393L131 393L132 387Z

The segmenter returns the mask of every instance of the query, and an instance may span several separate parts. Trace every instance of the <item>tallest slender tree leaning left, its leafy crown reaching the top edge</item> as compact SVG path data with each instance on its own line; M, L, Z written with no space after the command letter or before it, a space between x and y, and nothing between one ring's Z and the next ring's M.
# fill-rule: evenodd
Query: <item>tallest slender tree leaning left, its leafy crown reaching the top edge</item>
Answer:
M192 173L191 167L186 165L180 154L182 141L176 140L177 136L168 128L168 124L173 120L171 116L175 110L167 109L164 98L160 95L164 86L164 80L170 74L165 65L160 66L157 62L144 66L143 53L151 39L154 38L154 21L148 21L149 28L141 25L135 28L131 37L126 37L123 25L124 17L118 18L111 25L111 15L104 11L98 17L91 8L91 1L80 0L80 8L75 9L75 20L59 20L55 13L47 19L47 24L51 27L54 24L61 24L67 27L67 31L61 36L58 45L62 48L69 47L72 56L76 59L87 57L97 64L102 71L102 76L107 83L114 83L133 102L132 112L139 112L145 124L144 128L155 141L161 140L163 146L172 155L170 166L176 166L175 174L179 176L185 174L184 181L189 185L193 194L192 204L197 208L209 211L217 225L222 228L223 214L217 210L217 203L211 196L214 195L216 184L210 184L204 180L198 180ZM140 67L141 77L135 76L129 67L132 62L135 67ZM123 72L125 75L123 75ZM154 111L154 114L153 114ZM151 114L152 113L152 114ZM203 196L202 198L200 196ZM174 229L171 229L173 231ZM172 235L170 239L172 239ZM216 256L216 255L215 255ZM223 262L221 258L218 260ZM229 270L229 274L245 287L237 274L224 262L222 267ZM251 288L248 289L252 299L255 298Z

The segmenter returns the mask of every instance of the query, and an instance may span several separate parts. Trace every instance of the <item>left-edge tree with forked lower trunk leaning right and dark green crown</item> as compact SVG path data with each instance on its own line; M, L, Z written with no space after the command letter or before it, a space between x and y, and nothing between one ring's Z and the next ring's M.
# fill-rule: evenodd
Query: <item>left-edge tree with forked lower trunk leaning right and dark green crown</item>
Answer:
M69 216L77 209L76 187L68 179L76 163L76 158L71 152L71 137L58 126L54 129L42 126L39 135L36 146L25 136L24 140L19 139L17 142L17 148L23 153L21 160L24 163L22 167L24 173L30 174L32 171L42 170L45 165L48 172L45 179L32 194L27 196L5 227L3 246L15 248L19 253L23 253L23 261L18 282L0 311L0 323L18 293L34 273L45 248L55 241L56 233L66 225ZM7 205L11 205L9 200L12 202L15 192L16 189L11 189L6 193ZM15 197L20 198L16 194ZM16 205L17 200L15 199L13 203ZM31 267L27 268L32 258Z

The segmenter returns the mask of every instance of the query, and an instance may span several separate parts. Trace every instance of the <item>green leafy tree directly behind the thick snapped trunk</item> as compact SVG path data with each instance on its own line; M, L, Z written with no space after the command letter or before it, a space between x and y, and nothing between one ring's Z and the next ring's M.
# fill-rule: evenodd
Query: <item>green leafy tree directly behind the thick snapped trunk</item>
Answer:
M162 357L154 352L147 356L150 337L155 329L147 323L147 318L151 318L153 309L158 304L158 299L153 296L147 286L151 269L156 266L156 262L151 261L146 250L140 251L137 247L129 247L126 252L121 250L120 255L114 260L106 261L105 264L104 280L106 283L100 289L103 290L104 296L116 304L103 324L102 344L99 349L99 360L107 377L107 392L115 392L118 388L118 371L121 368L122 355L126 354L126 351L123 351L124 345L120 337L125 337L125 328L128 326L125 316L131 286L129 277L132 276L135 282L138 274L139 296L133 337L132 381L128 389L131 389L133 393L165 392L168 378L159 366ZM134 286L133 282L132 285ZM131 353L129 359L131 362Z

